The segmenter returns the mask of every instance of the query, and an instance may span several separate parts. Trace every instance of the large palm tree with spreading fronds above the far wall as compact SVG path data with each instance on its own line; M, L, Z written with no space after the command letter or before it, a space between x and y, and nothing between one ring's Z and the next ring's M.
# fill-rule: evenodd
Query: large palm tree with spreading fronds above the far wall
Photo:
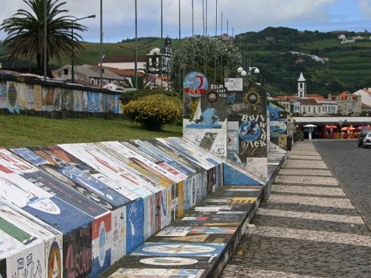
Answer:
M8 33L3 41L9 54L8 59L12 62L21 58L36 59L37 70L43 72L43 26L44 26L44 1L47 1L47 64L50 59L56 58L62 61L63 56L69 56L74 63L78 62L76 54L85 51L80 44L83 40L80 35L74 33L72 38L72 26L76 31L86 31L87 27L73 21L73 16L61 16L68 12L61 10L66 2L59 0L23 0L31 9L17 10L9 19L1 24L1 29ZM72 53L72 49L74 49ZM50 76L49 65L47 65L48 76Z

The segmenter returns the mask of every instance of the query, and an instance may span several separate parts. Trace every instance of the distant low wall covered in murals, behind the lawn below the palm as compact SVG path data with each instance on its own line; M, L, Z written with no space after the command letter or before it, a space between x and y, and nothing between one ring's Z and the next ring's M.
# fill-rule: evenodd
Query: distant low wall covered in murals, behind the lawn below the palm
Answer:
M105 89L1 77L0 109L6 113L121 113L120 95Z

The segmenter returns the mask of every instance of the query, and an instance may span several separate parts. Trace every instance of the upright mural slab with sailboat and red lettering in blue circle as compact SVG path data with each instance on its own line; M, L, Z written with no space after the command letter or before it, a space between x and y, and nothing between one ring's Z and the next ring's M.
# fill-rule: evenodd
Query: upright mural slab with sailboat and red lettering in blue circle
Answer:
M183 136L226 157L226 90L202 73L189 71L183 82Z

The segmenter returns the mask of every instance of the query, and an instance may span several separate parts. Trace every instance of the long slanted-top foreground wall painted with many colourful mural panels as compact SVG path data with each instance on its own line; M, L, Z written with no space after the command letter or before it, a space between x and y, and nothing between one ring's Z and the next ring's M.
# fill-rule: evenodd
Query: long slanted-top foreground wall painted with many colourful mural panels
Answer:
M0 277L95 277L223 182L184 138L0 148Z

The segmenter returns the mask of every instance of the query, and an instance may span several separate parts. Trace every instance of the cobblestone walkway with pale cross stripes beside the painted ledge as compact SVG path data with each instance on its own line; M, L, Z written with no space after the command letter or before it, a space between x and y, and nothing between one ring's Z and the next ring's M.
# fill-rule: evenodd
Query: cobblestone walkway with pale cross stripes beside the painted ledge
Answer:
M329 149L337 142L331 143L330 148L323 147L329 157ZM357 148L357 142L349 143ZM349 155L346 147L342 146L344 155ZM319 150L325 157L322 146ZM371 150L366 164L370 155ZM331 159L345 160L348 167L337 163L332 167L343 167L354 175L349 160ZM339 179L330 170L313 143L297 142L273 183L271 196L251 220L255 227L248 227L220 277L371 277L371 232L352 205L356 202L341 187L343 181L353 180ZM359 176L370 181L370 170L361 170ZM371 183L366 185L370 189ZM349 191L361 201L363 197L357 194L365 193L370 204L367 189Z

